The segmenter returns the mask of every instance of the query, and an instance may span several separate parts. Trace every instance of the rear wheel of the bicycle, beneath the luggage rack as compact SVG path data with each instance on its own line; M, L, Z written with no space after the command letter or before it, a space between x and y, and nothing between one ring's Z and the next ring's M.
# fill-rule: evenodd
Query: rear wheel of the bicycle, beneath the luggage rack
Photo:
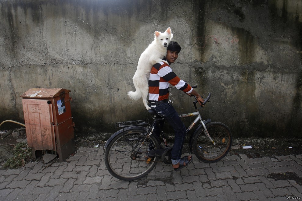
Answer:
M106 168L111 175L120 180L133 181L145 177L152 171L159 156L148 158L148 149L159 149L160 145L158 139L153 135L142 143L145 137L146 131L138 127L121 132L111 140L104 157ZM141 144L142 146L139 148ZM137 150L139 151L135 155Z

